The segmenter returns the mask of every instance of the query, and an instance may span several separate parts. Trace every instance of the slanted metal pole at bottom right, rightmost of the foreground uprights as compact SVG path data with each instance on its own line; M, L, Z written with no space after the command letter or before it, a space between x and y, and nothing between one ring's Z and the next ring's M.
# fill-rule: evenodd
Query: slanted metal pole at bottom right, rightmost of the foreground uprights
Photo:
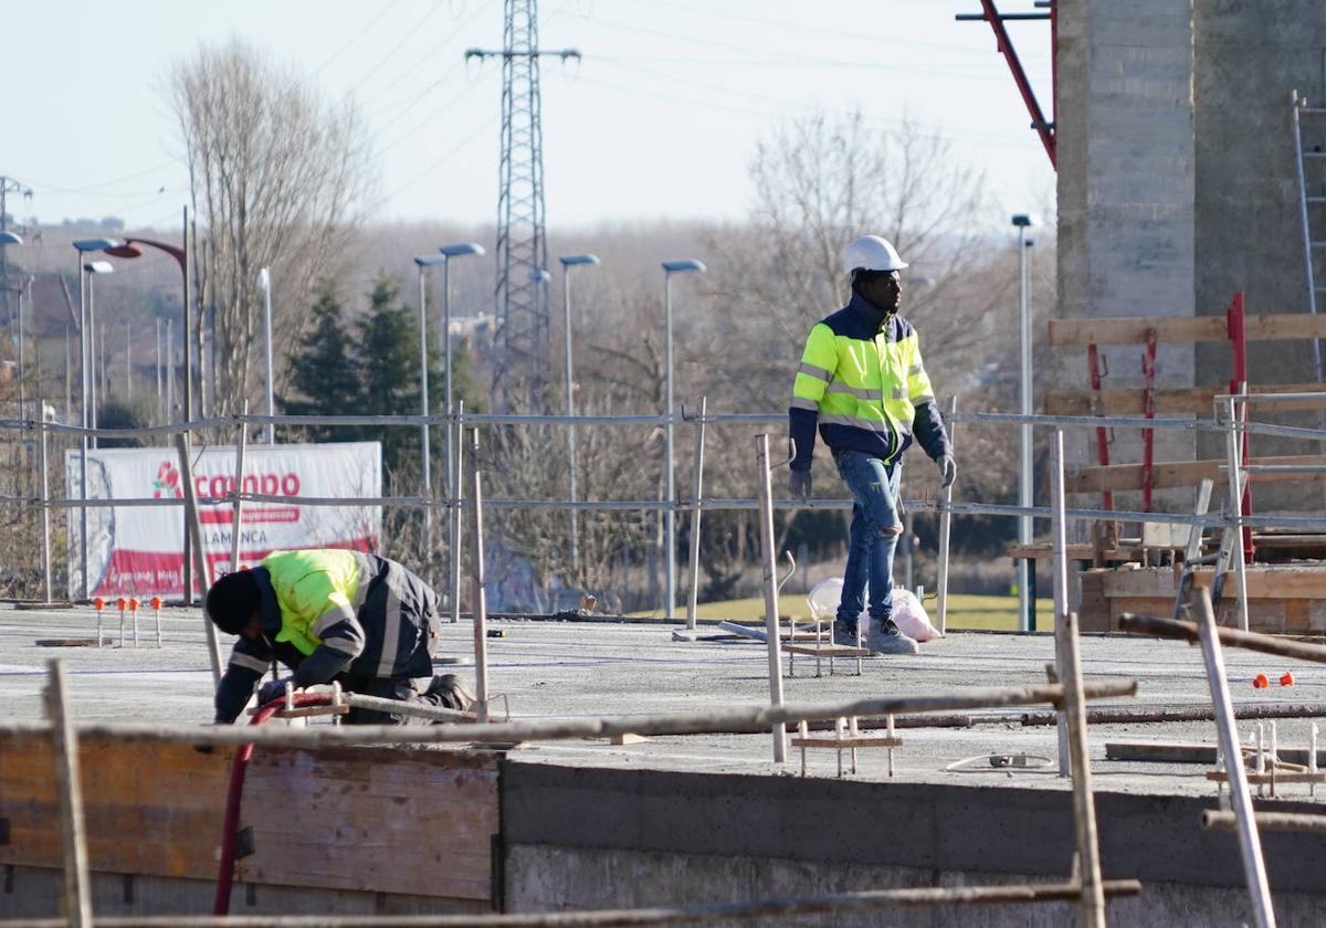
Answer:
M1201 658L1207 663L1207 681L1211 684L1211 701L1216 709L1216 734L1220 737L1220 753L1225 757L1229 799L1238 822L1238 851L1242 858L1244 878L1248 880L1248 895L1252 899L1257 927L1274 928L1276 911L1270 904L1266 864L1261 859L1261 838L1257 834L1252 797L1248 794L1248 772L1242 764L1238 729L1235 726L1235 708L1229 699L1229 680L1225 677L1225 659L1220 647L1220 635L1216 632L1216 614L1211 606L1211 591L1203 586L1197 587L1195 593L1199 597L1197 630L1201 636Z

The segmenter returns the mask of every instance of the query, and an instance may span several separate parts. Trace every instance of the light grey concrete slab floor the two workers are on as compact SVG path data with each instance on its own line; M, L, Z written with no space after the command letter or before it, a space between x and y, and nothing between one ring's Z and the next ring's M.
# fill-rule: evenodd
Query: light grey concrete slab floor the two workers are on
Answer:
M679 626L658 623L497 620L501 636L488 640L489 685L499 716L509 705L513 717L618 716L703 711L715 707L766 704L768 659L760 642L679 642ZM37 720L48 662L58 658L69 673L76 719L206 724L212 719L212 675L199 610L167 609L162 614L162 647L156 647L151 612L139 615L138 647L131 632L119 647L118 615L107 612L111 632L106 647L53 646L49 642L95 639L91 609L17 609L0 605L0 717ZM701 634L712 634L711 627ZM38 642L46 642L38 644ZM231 640L223 636L223 662ZM789 703L835 703L870 696L932 695L975 687L1028 685L1045 681L1053 660L1050 635L951 632L922 646L915 656L870 658L855 676L855 660L839 660L838 675L815 677L814 662L800 659L796 677L784 677ZM472 635L467 623L446 626L439 655L460 663L438 672L456 672L472 681ZM1253 704L1326 701L1326 667L1296 664L1246 651L1225 651L1236 708ZM1132 699L1101 700L1093 705L1176 708L1209 705L1201 651L1179 642L1123 635L1087 635L1082 640L1085 676L1134 677ZM786 669L786 658L784 658ZM1292 687L1277 684L1293 671ZM1252 680L1265 673L1270 687ZM1033 707L1037 708L1037 707ZM1046 707L1038 707L1041 709ZM1025 752L1055 757L1053 725L1024 726L1024 709L971 712L971 728L902 729L904 745L895 753L895 777L903 782L1000 785L1020 789L1067 789L1053 769L945 772L973 756ZM1278 744L1305 748L1309 719L1282 719ZM1249 736L1252 723L1242 723ZM1106 760L1107 741L1183 741L1215 744L1213 723L1098 724L1090 728L1095 787L1142 794L1213 794L1205 778L1209 766ZM524 745L509 760L562 766L686 770L798 776L800 753L786 765L772 762L769 734L687 736L611 745L579 740ZM833 750L812 750L809 772L834 777ZM887 780L883 750L858 753L855 780ZM1284 798L1306 798L1306 786L1282 786Z

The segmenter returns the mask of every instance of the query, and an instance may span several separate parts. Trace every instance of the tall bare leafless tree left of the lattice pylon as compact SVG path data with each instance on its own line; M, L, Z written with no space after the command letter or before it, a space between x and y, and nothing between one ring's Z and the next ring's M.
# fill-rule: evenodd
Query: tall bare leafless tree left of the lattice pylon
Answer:
M195 293L215 329L213 412L225 414L259 395L259 270L272 268L273 335L289 343L304 325L313 282L355 223L370 179L369 146L353 102L324 102L240 38L204 45L174 65L167 95L200 224Z

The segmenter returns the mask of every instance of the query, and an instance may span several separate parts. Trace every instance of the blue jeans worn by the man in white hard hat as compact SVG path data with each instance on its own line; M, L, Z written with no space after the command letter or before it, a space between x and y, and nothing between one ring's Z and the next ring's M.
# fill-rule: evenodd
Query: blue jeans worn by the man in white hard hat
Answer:
M847 570L842 578L842 601L838 622L857 626L865 606L866 581L870 581L870 618L876 628L894 611L894 550L900 529L898 516L902 465L884 464L879 457L861 451L834 452L838 473L851 492L851 530L847 541Z

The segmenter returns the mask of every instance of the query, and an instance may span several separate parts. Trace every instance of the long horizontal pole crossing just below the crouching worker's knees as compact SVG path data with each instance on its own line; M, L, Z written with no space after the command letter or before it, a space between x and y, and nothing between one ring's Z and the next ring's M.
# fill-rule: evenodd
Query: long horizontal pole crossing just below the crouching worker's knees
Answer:
M1132 696L1136 680L1086 683L1086 699ZM829 704L757 705L708 712L609 716L591 719L546 719L493 723L488 725L318 725L296 728L251 728L248 725L159 725L149 723L77 723L78 736L91 740L174 741L183 744L256 744L264 746L316 748L322 745L383 744L492 744L554 741L560 738L602 738L613 734L700 734L748 728L772 729L776 724L796 724L802 719L839 716L886 716L926 712L961 712L1009 705L1057 704L1063 687L1046 683L1029 687L973 687L932 696L891 696ZM48 730L41 723L0 723L0 737Z

